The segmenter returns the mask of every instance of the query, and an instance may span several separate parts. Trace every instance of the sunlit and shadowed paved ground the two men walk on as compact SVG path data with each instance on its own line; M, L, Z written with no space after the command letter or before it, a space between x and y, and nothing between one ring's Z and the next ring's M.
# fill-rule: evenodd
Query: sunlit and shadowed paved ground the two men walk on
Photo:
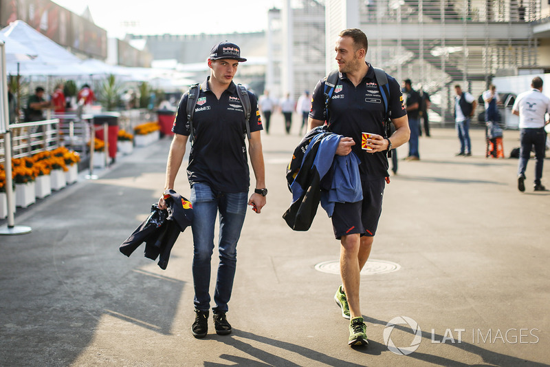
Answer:
M304 233L281 218L299 138L283 134L279 116L273 125L263 138L268 205L250 211L239 242L231 335L190 334L190 231L166 271L141 249L118 252L162 189L160 140L19 213L32 233L0 237L0 366L547 366L550 193L519 193L517 160L486 159L481 130L474 156L455 157L454 131L434 128L421 161L399 162L371 258L401 267L362 276L370 344L353 349L333 301L339 276L314 268L338 259L329 218L320 209ZM505 132L505 151L517 145L518 132ZM183 175L177 189L188 196ZM417 349L397 355L384 333Z

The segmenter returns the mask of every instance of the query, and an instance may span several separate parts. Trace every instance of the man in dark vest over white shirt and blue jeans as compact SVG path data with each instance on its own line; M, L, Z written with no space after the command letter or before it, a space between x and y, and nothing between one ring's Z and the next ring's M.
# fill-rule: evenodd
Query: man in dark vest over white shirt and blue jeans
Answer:
M460 85L454 85L454 123L459 135L460 151L456 156L471 156L470 120L476 111L476 98L468 92L462 92Z

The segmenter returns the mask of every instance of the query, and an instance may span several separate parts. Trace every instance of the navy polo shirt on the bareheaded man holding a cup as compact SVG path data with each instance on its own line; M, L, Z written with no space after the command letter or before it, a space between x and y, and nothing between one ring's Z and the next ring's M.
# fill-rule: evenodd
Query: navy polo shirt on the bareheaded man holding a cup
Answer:
M329 126L331 132L353 138L355 145L351 150L361 160L359 172L362 180L388 176L388 158L386 152L366 153L361 149L361 133L367 132L384 136L384 116L386 110L376 83L373 67L369 63L369 71L357 87L340 73L338 82L329 102ZM399 118L407 114L403 105L403 96L399 83L388 75L390 90L389 110L391 118ZM325 78L317 83L311 101L309 117L316 120L326 120L325 117Z

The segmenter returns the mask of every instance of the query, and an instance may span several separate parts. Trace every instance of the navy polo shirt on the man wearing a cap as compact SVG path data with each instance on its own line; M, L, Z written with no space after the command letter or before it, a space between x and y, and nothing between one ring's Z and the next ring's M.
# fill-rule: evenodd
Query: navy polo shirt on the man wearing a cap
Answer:
M189 153L187 177L191 185L205 182L216 191L248 191L250 171L245 145L245 112L236 85L231 82L218 100L208 87L208 78L201 85L193 114L195 141ZM172 127L175 134L190 134L188 96L188 93L184 94L179 101ZM252 107L248 124L250 132L257 132L263 129L258 103L252 92L248 92L248 96Z

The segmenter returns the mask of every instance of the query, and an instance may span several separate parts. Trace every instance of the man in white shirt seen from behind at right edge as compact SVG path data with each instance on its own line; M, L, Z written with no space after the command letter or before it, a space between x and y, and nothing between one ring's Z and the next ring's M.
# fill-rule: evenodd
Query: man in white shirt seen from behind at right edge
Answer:
M542 94L542 79L538 76L531 81L531 90L518 95L511 112L520 116L520 161L518 164L518 190L525 191L525 169L531 154L535 149L535 191L547 191L542 185L542 166L544 165L544 149L546 132L544 125L549 123L546 114L550 114L550 98Z

